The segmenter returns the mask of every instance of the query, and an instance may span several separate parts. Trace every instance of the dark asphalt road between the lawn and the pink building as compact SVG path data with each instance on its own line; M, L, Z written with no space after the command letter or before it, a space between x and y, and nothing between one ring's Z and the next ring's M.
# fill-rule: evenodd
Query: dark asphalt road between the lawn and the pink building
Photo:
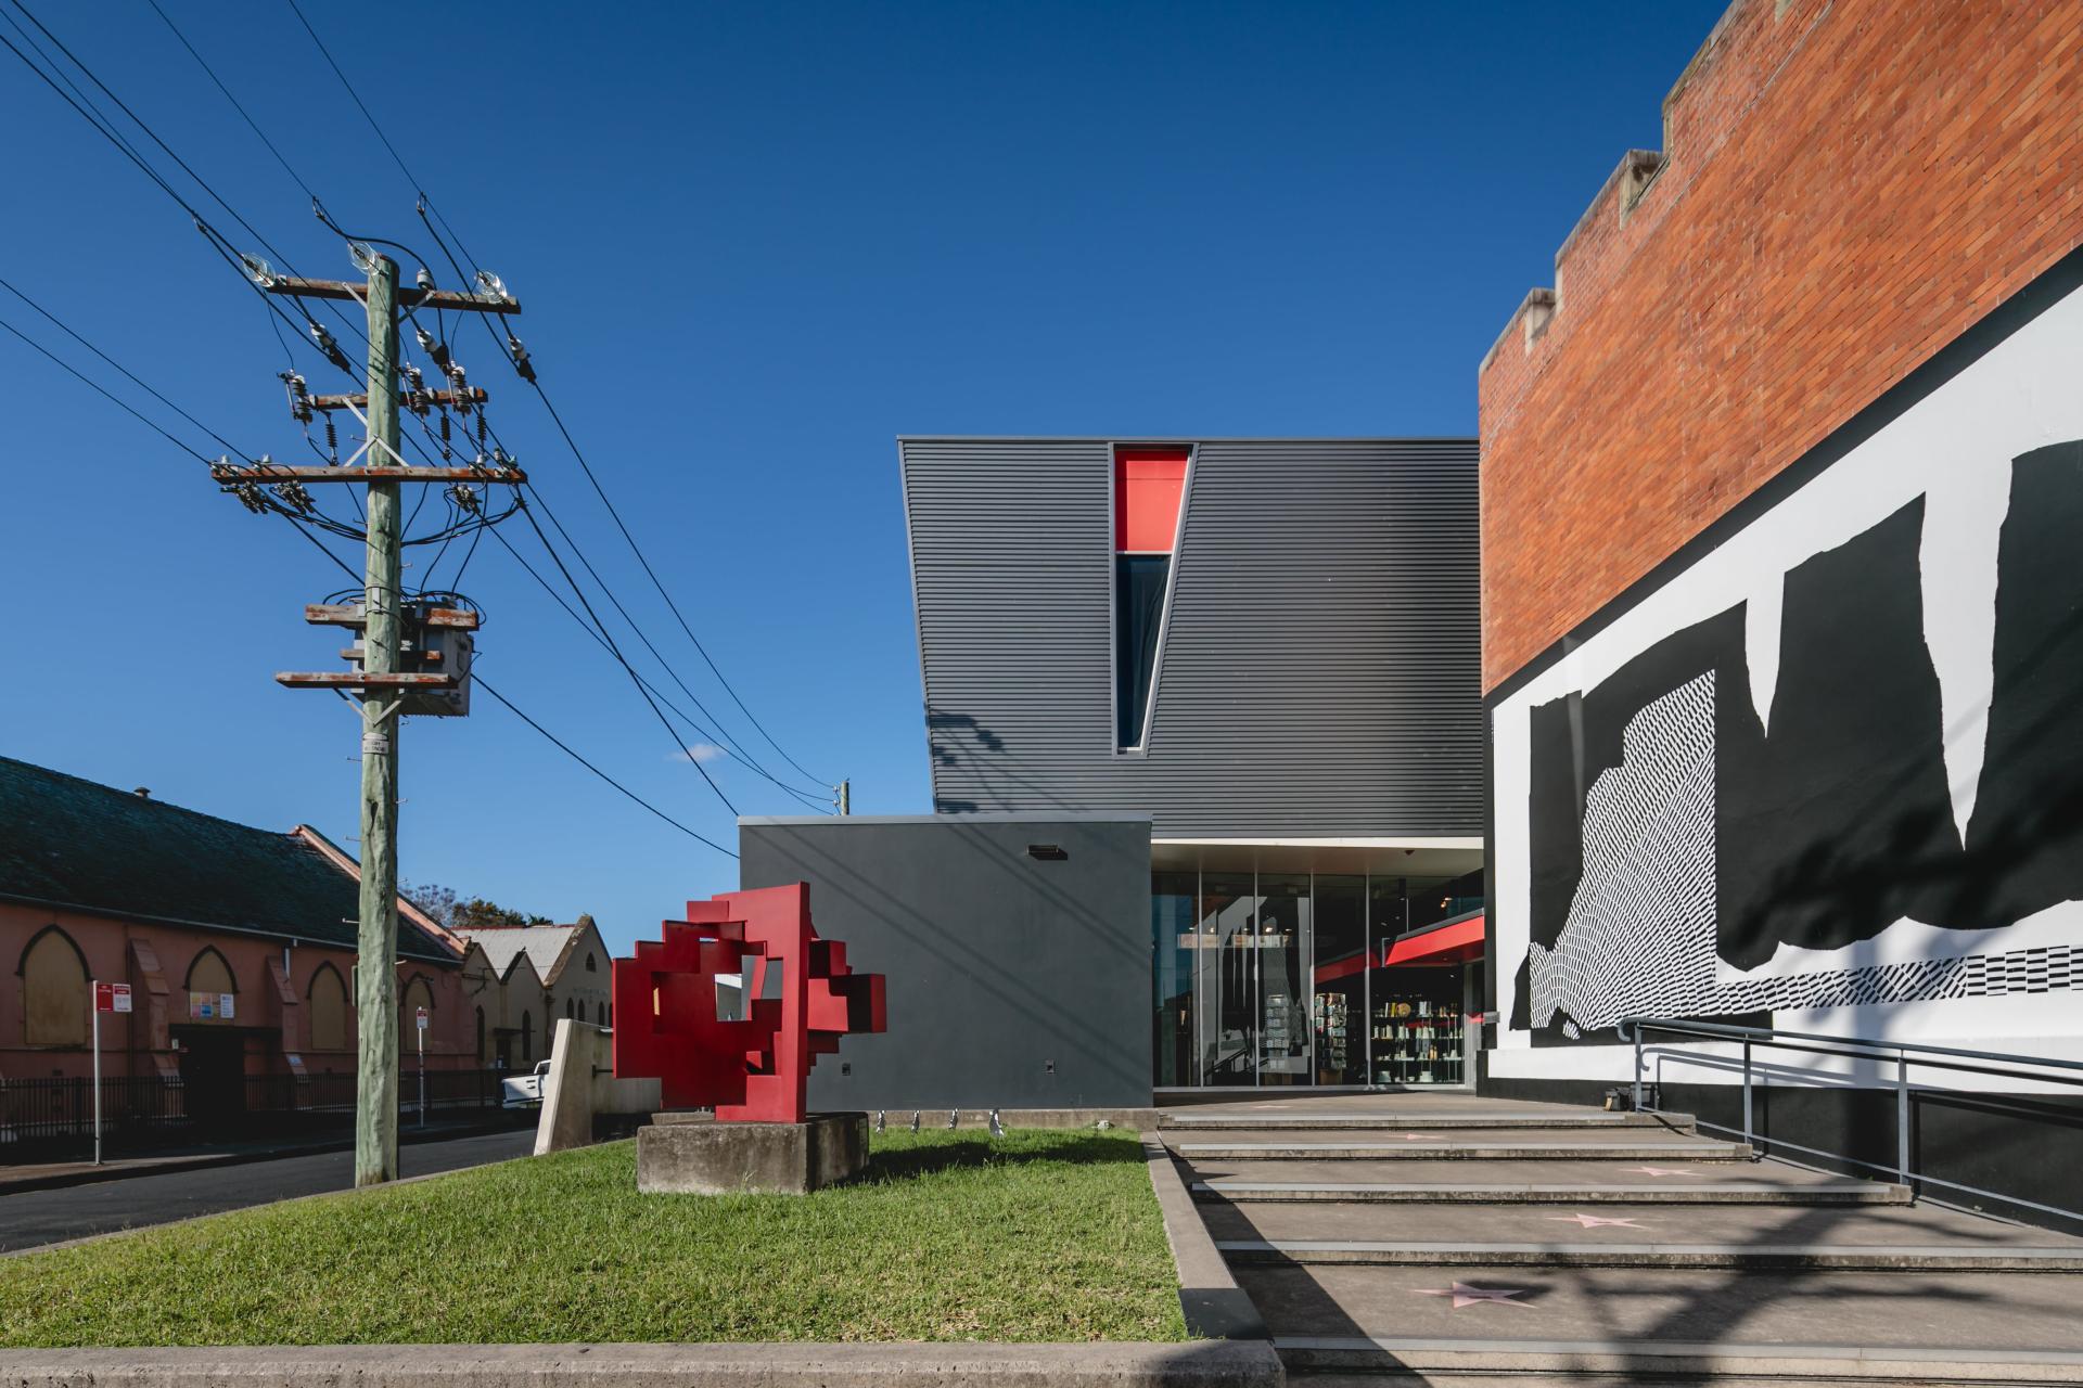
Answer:
M410 1142L398 1149L398 1167L404 1176L454 1172L525 1157L533 1145L533 1128L446 1142ZM342 1151L248 1161L204 1172L129 1176L92 1186L25 1190L0 1197L0 1253L83 1238L85 1234L212 1215L223 1209L267 1205L298 1194L346 1190L352 1184L354 1153Z

